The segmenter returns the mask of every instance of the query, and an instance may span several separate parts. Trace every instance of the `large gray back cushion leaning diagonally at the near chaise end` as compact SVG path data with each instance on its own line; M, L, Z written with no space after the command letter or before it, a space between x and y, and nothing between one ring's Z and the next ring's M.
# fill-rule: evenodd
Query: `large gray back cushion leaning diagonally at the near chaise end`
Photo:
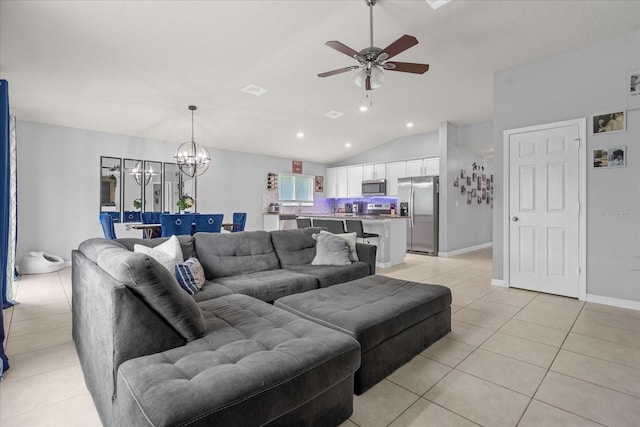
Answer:
M107 274L131 289L184 339L192 341L205 333L205 321L196 302L180 288L175 273L156 260L104 239L87 240L79 249Z

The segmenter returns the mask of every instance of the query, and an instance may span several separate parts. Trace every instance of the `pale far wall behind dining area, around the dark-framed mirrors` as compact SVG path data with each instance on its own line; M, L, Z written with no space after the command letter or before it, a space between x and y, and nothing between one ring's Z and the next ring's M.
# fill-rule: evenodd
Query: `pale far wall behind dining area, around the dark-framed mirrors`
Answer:
M33 250L69 260L82 241L103 236L98 221L100 156L172 162L179 145L20 120L16 133L18 262ZM224 213L225 220L235 211L247 212L246 229L262 229L267 173L290 172L291 160L207 148L213 160L198 178L198 211ZM324 175L325 168L305 162L303 173Z

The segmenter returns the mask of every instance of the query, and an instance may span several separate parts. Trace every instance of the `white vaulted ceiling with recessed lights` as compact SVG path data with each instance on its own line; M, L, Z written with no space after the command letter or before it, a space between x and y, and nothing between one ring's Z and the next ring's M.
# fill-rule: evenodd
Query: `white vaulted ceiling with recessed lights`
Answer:
M317 77L355 63L326 41L369 45L363 0L1 0L0 78L21 120L177 144L194 104L202 144L333 163L444 120L490 120L495 71L638 30L640 2L378 0L373 21L376 46L413 35L394 60L430 70L387 71L368 93L355 71Z

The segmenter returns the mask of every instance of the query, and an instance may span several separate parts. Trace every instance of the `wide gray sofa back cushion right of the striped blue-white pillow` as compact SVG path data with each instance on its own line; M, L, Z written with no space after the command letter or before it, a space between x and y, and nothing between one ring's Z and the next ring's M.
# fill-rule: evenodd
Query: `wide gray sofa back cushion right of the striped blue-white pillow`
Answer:
M196 233L194 241L207 280L280 268L266 231Z

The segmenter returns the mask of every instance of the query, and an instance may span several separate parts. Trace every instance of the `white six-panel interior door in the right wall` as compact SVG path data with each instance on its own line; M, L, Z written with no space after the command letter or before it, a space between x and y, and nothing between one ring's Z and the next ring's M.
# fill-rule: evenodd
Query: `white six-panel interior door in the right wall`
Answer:
M509 144L509 286L578 297L580 127L514 131Z

